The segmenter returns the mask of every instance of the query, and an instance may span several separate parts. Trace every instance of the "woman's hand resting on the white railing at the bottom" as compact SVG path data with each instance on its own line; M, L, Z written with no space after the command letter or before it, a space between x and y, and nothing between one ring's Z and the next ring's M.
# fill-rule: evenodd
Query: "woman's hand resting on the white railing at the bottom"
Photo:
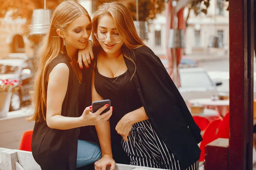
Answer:
M94 163L95 170L106 170L106 167L111 165L110 170L115 170L116 162L111 155L102 155L102 158Z

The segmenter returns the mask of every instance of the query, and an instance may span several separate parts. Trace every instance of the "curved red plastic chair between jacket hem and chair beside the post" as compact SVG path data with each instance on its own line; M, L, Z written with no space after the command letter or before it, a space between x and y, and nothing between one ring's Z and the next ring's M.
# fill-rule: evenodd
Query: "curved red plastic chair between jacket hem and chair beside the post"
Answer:
M204 161L204 147L205 145L209 144L210 142L217 139L216 133L218 131L218 126L221 123L222 118L215 119L209 123L209 125L205 128L204 134L203 134L203 140L200 143L200 149L201 149L201 155L199 161Z

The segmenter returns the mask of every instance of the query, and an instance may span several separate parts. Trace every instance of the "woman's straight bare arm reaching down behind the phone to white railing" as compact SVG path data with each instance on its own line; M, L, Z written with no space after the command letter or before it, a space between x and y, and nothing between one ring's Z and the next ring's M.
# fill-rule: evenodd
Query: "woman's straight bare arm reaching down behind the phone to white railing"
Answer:
M103 100L103 98L97 93L94 87L94 71L92 73L92 102ZM111 107L111 110L113 107ZM102 115L104 115L103 113ZM107 165L111 165L111 170L114 170L116 163L113 160L111 150L111 136L110 136L110 123L109 121L102 122L99 125L95 125L96 132L99 138L99 144L102 150L102 158L95 162L96 170L105 170Z

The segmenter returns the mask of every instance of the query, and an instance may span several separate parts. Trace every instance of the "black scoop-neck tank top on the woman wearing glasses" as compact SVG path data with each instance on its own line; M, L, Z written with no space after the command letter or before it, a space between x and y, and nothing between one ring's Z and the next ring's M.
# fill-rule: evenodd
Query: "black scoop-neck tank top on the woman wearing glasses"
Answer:
M113 159L116 163L129 164L128 157L124 159L119 156L120 152L124 152L121 146L122 136L116 132L115 128L126 113L143 107L134 82L131 80L131 75L126 71L118 77L105 77L99 73L96 61L94 86L103 99L111 100L111 106L113 106L110 118ZM126 156L127 154L123 153L122 155Z

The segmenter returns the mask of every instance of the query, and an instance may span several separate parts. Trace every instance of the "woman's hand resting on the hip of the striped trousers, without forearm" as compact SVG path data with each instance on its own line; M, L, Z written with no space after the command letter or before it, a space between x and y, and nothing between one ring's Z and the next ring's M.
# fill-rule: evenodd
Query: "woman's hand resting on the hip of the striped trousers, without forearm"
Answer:
M116 125L116 132L123 137L125 141L128 141L127 136L130 135L131 127L133 123L131 123L131 119L129 119L129 114L126 114L122 117L122 119Z

